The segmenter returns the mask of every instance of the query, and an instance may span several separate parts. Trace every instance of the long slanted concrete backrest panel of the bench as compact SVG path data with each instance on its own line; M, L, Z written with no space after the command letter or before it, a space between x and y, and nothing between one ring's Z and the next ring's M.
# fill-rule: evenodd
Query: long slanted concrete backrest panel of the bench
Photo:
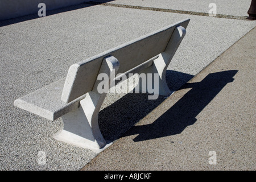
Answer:
M71 65L65 80L61 100L68 103L90 92L96 82L102 60L114 56L119 61L118 73L125 73L164 52L176 26L187 27L189 19L164 27L151 34Z

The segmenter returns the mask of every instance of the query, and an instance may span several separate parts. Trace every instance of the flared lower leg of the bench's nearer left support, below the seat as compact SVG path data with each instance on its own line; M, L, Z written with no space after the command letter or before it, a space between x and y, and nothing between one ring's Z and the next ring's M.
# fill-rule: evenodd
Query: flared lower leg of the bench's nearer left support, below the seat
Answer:
M61 118L64 128L53 138L82 148L99 150L106 144L98 127L98 111L106 94L88 93L78 109ZM96 104L96 105L94 105Z

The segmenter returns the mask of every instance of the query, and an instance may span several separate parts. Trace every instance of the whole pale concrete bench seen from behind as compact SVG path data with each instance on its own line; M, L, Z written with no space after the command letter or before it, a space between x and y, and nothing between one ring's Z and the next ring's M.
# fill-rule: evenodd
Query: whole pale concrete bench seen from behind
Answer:
M169 96L166 69L174 56L189 19L71 65L66 78L15 100L14 105L51 121L61 117L64 129L53 137L94 151L108 146L98 126L98 112L107 93L99 93L100 73L157 73L158 94ZM120 75L119 74L119 75ZM115 80L118 80L115 77ZM114 80L114 85L116 84ZM113 80L106 80L111 81ZM110 84L110 86L113 84ZM109 86L109 88L110 88ZM108 88L108 89L109 89ZM143 90L142 86L139 89Z

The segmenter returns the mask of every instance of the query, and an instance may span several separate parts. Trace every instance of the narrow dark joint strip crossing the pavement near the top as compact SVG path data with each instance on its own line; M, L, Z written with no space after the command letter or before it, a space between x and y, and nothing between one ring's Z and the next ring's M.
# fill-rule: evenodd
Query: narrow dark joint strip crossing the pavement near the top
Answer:
M85 3L88 5L114 6L114 7L123 7L123 8L138 9L138 10L150 10L150 11L161 11L161 12L168 12L168 13L209 16L208 13L201 13L201 12L195 12L195 11L172 10L172 9L162 9L162 8L156 8L156 7L144 7L144 6L133 6L133 5L120 5L115 3L102 3L102 2L95 2L95 1L89 1ZM223 14L216 14L214 18L250 20L248 19L247 16L234 16L234 15L223 15Z

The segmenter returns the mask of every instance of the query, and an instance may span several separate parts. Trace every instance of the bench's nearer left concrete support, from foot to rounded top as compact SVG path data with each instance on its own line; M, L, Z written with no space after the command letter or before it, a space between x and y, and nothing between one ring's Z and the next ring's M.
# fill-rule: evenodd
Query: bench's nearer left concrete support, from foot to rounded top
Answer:
M115 75L118 68L118 60L113 56L108 56L102 61L99 74L106 73L109 80L104 81L108 81L110 85L112 81L110 75ZM98 92L97 87L100 82L102 81L96 81L93 90L80 101L79 108L61 117L64 129L55 134L53 138L82 148L89 148L95 152L100 152L109 145L106 144L98 126L98 113L107 94Z

